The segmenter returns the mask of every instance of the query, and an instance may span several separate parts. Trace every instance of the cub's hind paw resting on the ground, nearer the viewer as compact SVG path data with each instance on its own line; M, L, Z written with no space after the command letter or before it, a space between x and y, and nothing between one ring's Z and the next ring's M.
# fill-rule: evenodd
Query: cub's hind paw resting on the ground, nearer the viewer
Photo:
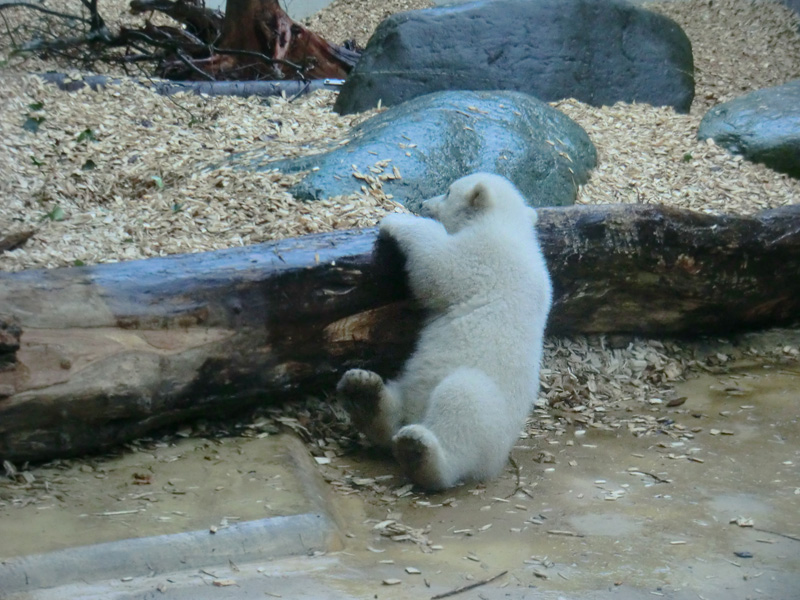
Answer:
M406 425L392 440L394 456L415 484L439 490L455 482L445 473L445 457L436 435L424 425Z

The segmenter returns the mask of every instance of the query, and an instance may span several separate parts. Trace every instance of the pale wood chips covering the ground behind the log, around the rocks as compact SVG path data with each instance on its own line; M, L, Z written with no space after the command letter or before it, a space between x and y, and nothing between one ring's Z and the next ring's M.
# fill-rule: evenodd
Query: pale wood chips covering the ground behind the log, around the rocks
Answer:
M59 9L68 0L46 0ZM309 20L331 40L367 35L386 15L429 6L417 0L335 2ZM578 203L647 202L708 212L752 213L800 197L800 181L695 139L712 104L800 77L798 19L778 2L701 0L650 5L676 19L692 41L698 100L689 115L648 105L554 103L589 133L600 163ZM109 0L110 26L141 23L127 2ZM3 11L34 18L22 8ZM357 15L354 16L354 15ZM330 27L330 28L328 28ZM337 31L339 33L334 33ZM349 33L345 33L349 32ZM0 40L0 58L8 41ZM745 51L742 51L742 48ZM401 177L380 157L368 172L343 173L364 189L303 202L288 188L302 175L246 173L224 164L234 152L286 158L348 139L374 113L342 117L335 94L283 98L170 98L126 83L99 92L60 91L23 71L67 68L27 58L3 71L0 102L0 232L11 248L0 270L96 264L241 246L306 233L374 225L402 211L383 183ZM70 71L73 78L81 74ZM27 119L41 119L33 133ZM385 163L385 164L384 164Z

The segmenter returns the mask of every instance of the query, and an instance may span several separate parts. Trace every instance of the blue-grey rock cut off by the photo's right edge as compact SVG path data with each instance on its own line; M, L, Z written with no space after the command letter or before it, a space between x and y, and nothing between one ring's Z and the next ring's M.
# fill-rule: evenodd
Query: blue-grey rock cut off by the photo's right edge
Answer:
M800 79L715 106L700 122L697 137L800 177Z

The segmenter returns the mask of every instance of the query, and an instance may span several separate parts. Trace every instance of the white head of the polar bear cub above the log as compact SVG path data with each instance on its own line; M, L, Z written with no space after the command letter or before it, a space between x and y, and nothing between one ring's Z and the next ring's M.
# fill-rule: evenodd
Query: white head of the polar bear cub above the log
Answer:
M426 200L420 214L436 219L453 234L484 219L511 224L536 224L536 211L505 177L473 173L454 181L446 194Z

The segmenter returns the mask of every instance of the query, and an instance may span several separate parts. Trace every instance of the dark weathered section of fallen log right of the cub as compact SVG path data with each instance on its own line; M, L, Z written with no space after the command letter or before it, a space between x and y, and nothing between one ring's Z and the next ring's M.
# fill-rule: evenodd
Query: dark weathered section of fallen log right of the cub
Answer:
M646 205L540 211L551 333L694 335L800 317L800 205L753 217Z

